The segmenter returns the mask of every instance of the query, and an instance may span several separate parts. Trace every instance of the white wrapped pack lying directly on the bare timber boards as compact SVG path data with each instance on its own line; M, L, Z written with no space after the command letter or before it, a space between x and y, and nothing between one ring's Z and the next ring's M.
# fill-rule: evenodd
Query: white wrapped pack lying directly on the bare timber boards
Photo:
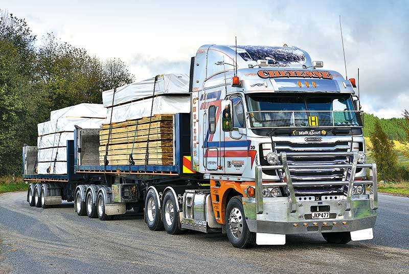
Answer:
M109 123L111 111L112 123L124 122L126 120L135 120L150 116L152 107L152 98L131 102L119 106L108 108ZM153 100L152 116L160 114L174 114L174 113L189 113L190 112L190 96L159 96Z

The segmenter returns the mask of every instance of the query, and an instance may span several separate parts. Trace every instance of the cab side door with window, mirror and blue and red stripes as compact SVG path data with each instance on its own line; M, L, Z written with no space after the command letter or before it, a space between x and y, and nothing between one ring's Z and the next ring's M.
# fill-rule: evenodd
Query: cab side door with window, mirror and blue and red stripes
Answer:
M220 154L224 173L242 174L247 165L250 145L245 134L244 104L241 95L232 95L229 99L222 104L221 123L224 138Z

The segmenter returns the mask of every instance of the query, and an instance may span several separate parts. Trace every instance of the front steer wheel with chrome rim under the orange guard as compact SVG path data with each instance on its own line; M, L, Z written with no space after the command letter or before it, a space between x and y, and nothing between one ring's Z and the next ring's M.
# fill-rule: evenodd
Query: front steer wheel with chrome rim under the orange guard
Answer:
M241 196L233 197L226 208L226 234L234 247L247 248L256 244L256 233L248 229Z

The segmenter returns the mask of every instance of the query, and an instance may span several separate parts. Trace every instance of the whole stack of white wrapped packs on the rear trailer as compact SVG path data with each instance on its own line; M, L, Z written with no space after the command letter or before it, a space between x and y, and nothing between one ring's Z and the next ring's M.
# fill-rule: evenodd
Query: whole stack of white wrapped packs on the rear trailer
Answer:
M74 129L100 128L106 108L101 104L79 104L51 111L50 121L37 125L37 174L66 174L66 142L74 140Z

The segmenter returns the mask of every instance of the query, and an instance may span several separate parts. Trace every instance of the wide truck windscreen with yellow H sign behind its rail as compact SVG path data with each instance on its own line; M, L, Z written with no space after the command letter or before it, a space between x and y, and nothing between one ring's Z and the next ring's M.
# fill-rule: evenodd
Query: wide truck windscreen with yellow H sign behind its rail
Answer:
M350 95L247 95L252 128L361 126Z

